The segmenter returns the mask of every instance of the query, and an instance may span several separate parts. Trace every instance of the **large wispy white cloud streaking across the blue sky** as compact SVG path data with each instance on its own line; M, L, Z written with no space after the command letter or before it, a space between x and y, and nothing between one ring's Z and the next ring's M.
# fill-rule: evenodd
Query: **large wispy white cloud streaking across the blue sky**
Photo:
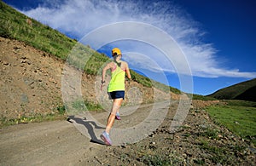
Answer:
M196 22L187 16L188 14L185 14L171 2L51 0L45 1L37 9L22 12L76 38L84 37L88 32L114 22L140 21L148 23L159 27L173 37L186 55L193 76L247 78L256 76L255 72L239 72L239 70L224 68L219 63L221 60L217 59L218 51L214 49L212 44L202 43L199 39L205 31L201 31ZM139 36L140 34L133 35ZM108 37L108 34L102 34L101 37ZM163 41L158 41L158 43L161 42ZM150 52L147 50L144 50L144 53L141 54L150 56ZM152 56L155 60L155 55ZM178 57L175 56L175 59L178 59ZM170 67L170 62L160 61L160 59L156 59L156 61L161 64L161 70L166 72L175 71L173 66ZM180 63L177 66L182 65ZM150 70L150 67L148 70ZM155 71L156 68L152 67L151 70Z

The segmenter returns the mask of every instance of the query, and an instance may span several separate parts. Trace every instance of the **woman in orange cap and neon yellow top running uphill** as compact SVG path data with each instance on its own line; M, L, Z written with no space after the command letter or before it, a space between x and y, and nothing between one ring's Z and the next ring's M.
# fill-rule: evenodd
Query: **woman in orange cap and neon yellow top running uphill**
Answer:
M108 95L113 100L113 106L108 116L108 123L105 131L101 135L101 139L106 145L112 145L109 137L110 129L113 126L114 119L120 120L119 108L125 99L125 74L131 79L128 64L120 60L122 57L121 51L118 48L112 49L113 61L108 63L102 70L102 86L105 83L105 75L108 69L111 70L111 80L108 84ZM102 87L101 87L102 89Z

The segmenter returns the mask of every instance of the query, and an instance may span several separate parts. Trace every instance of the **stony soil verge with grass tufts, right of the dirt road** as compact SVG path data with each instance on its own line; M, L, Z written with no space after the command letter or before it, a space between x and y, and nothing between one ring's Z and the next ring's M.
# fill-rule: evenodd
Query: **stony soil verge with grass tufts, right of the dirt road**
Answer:
M190 109L176 132L170 132L169 127L177 104L170 107L164 122L146 139L132 145L108 147L105 154L86 162L107 165L256 165L255 147L218 126L201 107L220 103L195 102L197 108Z

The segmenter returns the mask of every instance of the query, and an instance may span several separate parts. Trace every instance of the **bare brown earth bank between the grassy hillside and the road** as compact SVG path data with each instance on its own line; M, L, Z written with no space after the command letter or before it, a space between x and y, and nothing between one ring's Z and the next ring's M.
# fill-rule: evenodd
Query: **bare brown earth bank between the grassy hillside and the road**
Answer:
M26 43L0 37L1 121L56 114L63 106L61 76L64 63L64 60ZM81 86L84 100L97 104L96 76L83 72ZM168 93L135 81L127 83L126 87L127 91L142 93L143 103L170 97ZM108 98L108 94L104 96ZM172 99L178 99L178 95L172 94ZM130 102L131 99L125 99L125 104Z

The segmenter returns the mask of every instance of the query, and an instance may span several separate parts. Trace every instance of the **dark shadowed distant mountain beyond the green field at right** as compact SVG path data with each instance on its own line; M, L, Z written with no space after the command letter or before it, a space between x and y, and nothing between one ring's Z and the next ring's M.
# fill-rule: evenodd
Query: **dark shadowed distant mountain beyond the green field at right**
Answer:
M209 94L207 96L220 100L256 101L256 78L246 82L237 83L224 89L219 89L213 94Z

